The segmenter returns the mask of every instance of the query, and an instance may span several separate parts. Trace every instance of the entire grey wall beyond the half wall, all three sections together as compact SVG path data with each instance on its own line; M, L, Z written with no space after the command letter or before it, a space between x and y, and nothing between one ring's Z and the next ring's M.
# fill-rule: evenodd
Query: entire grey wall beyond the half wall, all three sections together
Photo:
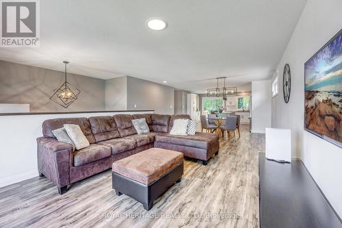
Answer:
M64 83L64 72L0 61L0 103L29 104L30 112L155 110L174 114L174 88L170 86L129 76L103 80L71 73L68 82L81 94L64 108L50 100Z

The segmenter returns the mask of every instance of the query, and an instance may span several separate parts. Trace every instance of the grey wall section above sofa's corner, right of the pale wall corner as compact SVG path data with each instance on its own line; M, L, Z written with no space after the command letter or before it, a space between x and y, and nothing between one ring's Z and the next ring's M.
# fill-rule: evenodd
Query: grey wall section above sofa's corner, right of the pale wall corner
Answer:
M174 88L127 76L127 109L174 114Z

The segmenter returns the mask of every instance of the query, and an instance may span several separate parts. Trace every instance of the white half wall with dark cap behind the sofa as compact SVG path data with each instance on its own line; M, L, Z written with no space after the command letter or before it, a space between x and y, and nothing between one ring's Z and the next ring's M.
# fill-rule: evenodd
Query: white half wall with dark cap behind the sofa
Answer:
M133 113L137 112L0 116L3 129L0 131L0 188L38 176L36 138L42 136L42 123L45 120Z

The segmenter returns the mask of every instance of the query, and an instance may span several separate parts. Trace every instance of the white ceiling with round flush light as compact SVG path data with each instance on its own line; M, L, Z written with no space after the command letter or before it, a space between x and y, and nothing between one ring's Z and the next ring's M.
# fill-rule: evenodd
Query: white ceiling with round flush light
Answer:
M0 60L109 79L130 75L204 92L250 90L281 58L306 0L44 0L40 47L1 48ZM168 27L148 29L149 18Z

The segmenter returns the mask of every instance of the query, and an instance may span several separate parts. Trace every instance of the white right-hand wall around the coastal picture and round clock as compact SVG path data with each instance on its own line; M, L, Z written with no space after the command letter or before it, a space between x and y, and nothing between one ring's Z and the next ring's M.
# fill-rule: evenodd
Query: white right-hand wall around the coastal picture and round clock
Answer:
M308 0L278 64L280 93L282 68L291 68L291 97L272 99L272 127L289 128L292 155L300 157L334 210L342 217L342 149L304 131L304 62L342 28L341 0ZM252 94L254 96L254 94Z

